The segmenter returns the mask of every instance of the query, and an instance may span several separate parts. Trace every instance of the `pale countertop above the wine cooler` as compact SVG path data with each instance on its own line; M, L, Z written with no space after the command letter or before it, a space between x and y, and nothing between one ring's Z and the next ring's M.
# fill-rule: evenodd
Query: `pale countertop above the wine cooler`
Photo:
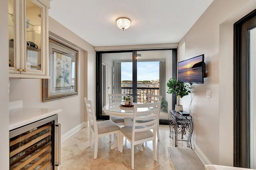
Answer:
M9 131L62 112L61 109L26 108L9 109Z

